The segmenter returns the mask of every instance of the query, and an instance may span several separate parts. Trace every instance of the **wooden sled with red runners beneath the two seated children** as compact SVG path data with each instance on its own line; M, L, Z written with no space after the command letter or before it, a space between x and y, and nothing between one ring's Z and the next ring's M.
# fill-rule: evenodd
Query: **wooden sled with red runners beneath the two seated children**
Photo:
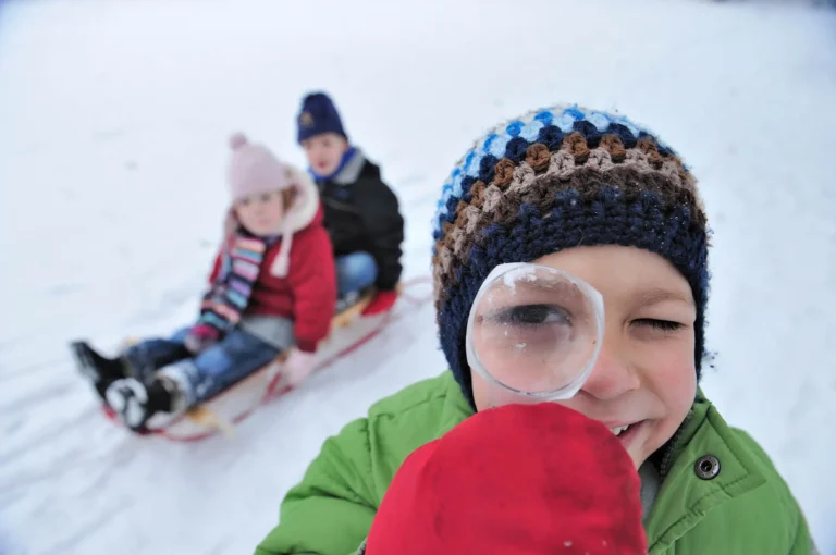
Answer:
M398 287L398 298L416 307L422 305L430 296L414 296L408 291L422 283L429 283L429 279L419 278L403 283ZM367 293L357 303L334 316L330 335L319 345L315 355L315 372L362 347L390 323L394 308L380 314L362 314L373 295L374 292ZM259 406L291 391L292 387L281 372L283 359L284 354L206 403L183 414L155 415L147 422L148 430L144 434L161 435L167 440L180 442L200 441L218 432L234 437L237 423L249 417ZM107 404L103 404L102 408L110 420L122 425Z

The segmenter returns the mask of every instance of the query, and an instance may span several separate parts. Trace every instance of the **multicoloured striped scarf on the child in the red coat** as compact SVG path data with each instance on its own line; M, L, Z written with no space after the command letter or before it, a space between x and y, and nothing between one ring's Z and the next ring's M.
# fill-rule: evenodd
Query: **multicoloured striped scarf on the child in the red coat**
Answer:
M200 318L192 334L204 341L218 341L241 321L258 280L268 240L235 235L222 258L221 271L204 296Z

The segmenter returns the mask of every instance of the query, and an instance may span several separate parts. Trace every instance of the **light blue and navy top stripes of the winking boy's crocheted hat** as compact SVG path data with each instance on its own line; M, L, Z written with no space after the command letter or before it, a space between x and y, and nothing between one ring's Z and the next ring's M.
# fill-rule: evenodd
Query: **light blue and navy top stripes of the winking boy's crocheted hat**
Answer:
M534 143L543 144L552 151L557 150L564 136L573 132L583 135L592 148L599 145L601 137L613 134L618 136L626 148L632 148L639 139L649 137L656 144L660 155L678 156L649 130L623 115L590 110L578 104L532 110L519 119L495 126L458 161L442 187L433 217L433 240L443 235L444 222L455 221L459 200L469 201L468 193L472 184L478 180L484 183L493 181L494 168L502 158L519 163L526 158L526 149ZM688 171L687 165L683 165Z

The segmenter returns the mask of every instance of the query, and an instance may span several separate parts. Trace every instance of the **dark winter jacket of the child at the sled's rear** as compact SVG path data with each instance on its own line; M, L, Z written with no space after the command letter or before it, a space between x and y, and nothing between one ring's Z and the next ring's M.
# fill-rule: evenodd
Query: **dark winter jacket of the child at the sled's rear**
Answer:
M317 181L334 255L369 252L378 264L377 287L394 289L402 271L404 219L380 168L356 149L334 177Z

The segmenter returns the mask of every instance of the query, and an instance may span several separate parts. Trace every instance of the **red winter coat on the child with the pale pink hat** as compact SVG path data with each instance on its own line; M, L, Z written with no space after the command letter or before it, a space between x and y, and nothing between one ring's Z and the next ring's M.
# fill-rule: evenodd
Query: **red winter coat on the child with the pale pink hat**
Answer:
M258 280L253 287L245 314L266 314L294 321L296 346L312 353L331 328L336 305L336 270L331 239L322 226L320 206L311 222L293 235L286 278L270 273L282 240L265 252ZM214 259L209 283L214 283L221 270L224 244Z

